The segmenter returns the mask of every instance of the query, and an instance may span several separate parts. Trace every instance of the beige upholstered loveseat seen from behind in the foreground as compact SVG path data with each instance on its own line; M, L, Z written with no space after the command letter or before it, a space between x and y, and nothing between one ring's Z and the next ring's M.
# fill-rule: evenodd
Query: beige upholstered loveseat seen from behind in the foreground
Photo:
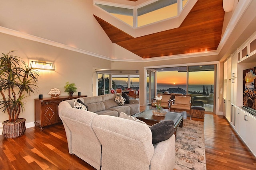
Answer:
M97 170L174 168L175 135L153 145L152 132L145 124L72 108L73 103L67 100L59 104L70 154Z

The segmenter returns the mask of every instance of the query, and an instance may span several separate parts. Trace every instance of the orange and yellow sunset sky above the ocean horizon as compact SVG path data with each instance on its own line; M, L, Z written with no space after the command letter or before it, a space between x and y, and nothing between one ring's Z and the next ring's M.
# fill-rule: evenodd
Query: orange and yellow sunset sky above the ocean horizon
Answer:
M157 83L186 84L186 72L157 72ZM189 84L214 84L214 71L189 72Z

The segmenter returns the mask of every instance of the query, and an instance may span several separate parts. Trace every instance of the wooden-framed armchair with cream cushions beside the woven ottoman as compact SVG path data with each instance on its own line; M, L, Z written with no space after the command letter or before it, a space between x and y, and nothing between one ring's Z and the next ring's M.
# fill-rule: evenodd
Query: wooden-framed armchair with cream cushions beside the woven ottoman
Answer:
M172 110L188 111L191 113L191 96L175 96L175 98L171 100L170 111Z

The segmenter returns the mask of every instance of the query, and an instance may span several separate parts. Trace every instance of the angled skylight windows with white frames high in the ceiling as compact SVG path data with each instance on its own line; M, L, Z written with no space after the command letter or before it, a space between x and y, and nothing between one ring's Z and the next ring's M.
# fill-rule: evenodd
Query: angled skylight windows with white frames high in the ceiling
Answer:
M122 4L95 5L124 21L132 27L140 27L157 21L178 16L188 0L152 0L152 3L140 6L124 6Z

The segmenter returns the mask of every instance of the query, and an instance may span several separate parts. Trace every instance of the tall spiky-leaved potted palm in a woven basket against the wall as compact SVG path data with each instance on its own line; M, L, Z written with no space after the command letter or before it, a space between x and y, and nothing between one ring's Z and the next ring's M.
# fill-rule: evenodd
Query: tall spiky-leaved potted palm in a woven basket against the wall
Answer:
M29 68L20 57L1 53L0 58L0 109L7 112L9 119L4 121L3 136L19 137L24 134L26 119L19 118L24 110L24 98L38 90L38 71Z

